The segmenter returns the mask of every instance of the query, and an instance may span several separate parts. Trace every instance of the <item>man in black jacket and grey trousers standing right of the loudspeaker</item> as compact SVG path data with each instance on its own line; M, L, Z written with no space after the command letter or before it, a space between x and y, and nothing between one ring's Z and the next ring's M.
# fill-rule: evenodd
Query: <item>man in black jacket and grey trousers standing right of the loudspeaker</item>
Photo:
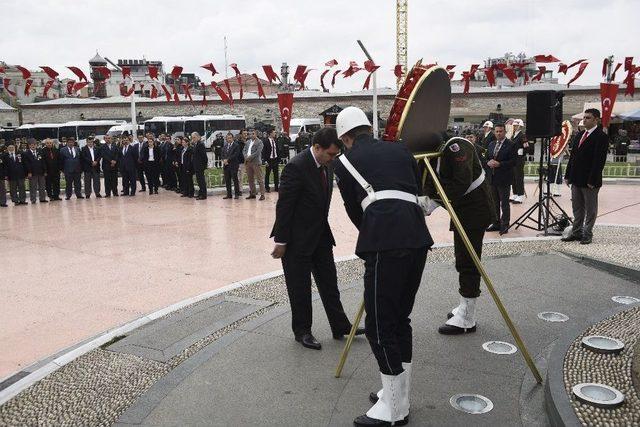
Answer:
M593 239L593 226L598 215L598 192L602 187L602 170L607 161L609 138L598 126L600 111L590 108L584 112L584 131L571 142L571 156L564 175L571 186L573 227L565 242L580 240L588 245Z

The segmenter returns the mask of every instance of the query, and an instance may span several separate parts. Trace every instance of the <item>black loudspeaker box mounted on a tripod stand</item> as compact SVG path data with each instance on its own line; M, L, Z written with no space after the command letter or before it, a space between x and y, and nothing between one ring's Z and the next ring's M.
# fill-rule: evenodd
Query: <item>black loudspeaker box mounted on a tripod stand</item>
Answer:
M527 93L527 137L551 138L562 132L562 97L555 90Z

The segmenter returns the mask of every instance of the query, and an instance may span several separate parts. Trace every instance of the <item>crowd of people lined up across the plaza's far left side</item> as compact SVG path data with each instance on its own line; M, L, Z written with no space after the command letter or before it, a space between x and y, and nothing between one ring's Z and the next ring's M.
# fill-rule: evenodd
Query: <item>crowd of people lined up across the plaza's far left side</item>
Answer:
M242 195L245 177L249 183L247 199L264 200L271 183L278 191L280 164L289 158L286 134L244 129L237 135L219 134L212 148L223 169L224 199ZM0 207L7 207L6 183L16 206L28 204L27 183L32 204L62 200L62 177L66 200L74 195L78 199L133 197L137 191L155 195L159 188L205 200L209 163L197 132L173 138L164 133L156 137L151 132L135 136L125 132L106 135L103 141L89 136L82 148L75 138L62 138L59 144L52 139L15 141L0 147Z

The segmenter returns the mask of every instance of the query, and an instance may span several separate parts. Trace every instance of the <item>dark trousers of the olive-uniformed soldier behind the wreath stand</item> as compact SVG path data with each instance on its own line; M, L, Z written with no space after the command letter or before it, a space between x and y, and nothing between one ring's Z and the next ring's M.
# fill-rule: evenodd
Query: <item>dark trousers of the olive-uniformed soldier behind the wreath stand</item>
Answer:
M476 251L478 258L482 256L482 239L484 238L484 227L467 229L464 231L469 237L471 246ZM480 272L473 263L464 241L458 230L453 230L453 249L456 257L456 271L458 272L458 292L465 298L477 298L480 296Z

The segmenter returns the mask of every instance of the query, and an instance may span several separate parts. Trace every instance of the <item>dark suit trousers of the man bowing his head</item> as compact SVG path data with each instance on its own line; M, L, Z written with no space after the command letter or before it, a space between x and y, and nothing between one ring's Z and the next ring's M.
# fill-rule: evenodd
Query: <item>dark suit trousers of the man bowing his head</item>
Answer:
M295 243L290 243L282 258L282 268L291 304L291 328L296 337L311 333L311 274L329 319L331 331L336 334L349 333L351 322L340 302L333 246L328 235L320 239L311 255L300 254Z

